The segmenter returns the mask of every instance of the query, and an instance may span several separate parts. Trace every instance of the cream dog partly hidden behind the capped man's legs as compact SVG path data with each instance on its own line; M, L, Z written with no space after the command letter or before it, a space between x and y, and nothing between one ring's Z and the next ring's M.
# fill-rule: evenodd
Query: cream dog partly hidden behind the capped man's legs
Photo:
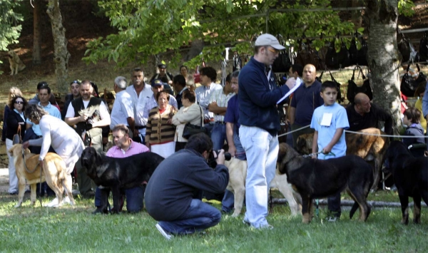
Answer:
M245 197L245 179L247 177L247 161L232 158L230 161L225 161L225 166L229 169L229 184L227 189L233 192L235 196L235 211L232 217L238 217L243 209ZM291 185L287 182L287 175L279 175L276 172L275 178L272 180L270 187L277 187L284 195L290 205L291 214L297 215L300 213L299 206L293 196Z

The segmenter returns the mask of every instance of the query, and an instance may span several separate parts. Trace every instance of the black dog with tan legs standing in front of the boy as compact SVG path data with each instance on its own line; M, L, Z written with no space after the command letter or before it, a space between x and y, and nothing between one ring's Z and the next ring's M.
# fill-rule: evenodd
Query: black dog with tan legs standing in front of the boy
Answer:
M350 218L360 208L360 220L370 215L367 195L373 184L372 167L356 155L329 160L303 158L289 145L280 144L278 155L280 172L287 174L287 181L302 196L303 223L309 223L313 215L313 200L328 197L347 190L355 201Z

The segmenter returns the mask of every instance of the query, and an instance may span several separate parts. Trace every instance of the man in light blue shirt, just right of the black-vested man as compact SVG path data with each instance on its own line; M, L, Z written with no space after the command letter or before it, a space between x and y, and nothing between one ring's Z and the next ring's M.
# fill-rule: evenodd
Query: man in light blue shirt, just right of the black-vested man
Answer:
M132 103L132 98L129 93L126 91L126 78L123 76L118 76L114 79L113 91L116 93L116 99L113 103L113 108L111 109L111 123L110 129L118 124L126 125L131 132L129 136L133 137L133 132L135 129L135 120L134 120L134 106Z

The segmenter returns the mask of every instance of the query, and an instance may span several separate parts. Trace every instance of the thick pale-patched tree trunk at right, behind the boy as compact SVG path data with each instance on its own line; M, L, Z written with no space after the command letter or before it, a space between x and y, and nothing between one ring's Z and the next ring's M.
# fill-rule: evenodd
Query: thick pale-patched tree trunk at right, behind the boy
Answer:
M367 62L374 103L394 118L394 134L400 123L399 53L397 51L398 0L367 0L365 12L369 38Z

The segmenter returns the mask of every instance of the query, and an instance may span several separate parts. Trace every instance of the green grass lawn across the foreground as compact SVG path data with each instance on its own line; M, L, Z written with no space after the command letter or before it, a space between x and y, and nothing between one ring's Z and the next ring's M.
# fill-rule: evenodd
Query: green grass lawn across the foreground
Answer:
M277 193L276 193L277 194ZM344 195L345 197L345 195ZM76 199L76 207L15 209L16 196L0 195L0 252L426 252L428 209L422 208L422 224L399 223L401 211L372 209L367 222L349 220L349 210L339 222L320 218L302 224L290 217L285 205L275 205L267 220L272 230L254 230L238 218L223 216L206 234L165 240L147 212L136 215L91 215L93 201ZM348 197L347 197L348 198ZM377 192L370 200L398 201L396 194ZM45 198L44 203L49 202ZM220 208L218 202L214 202ZM322 207L324 208L324 207ZM358 216L357 212L357 216ZM412 214L411 216L412 217Z

